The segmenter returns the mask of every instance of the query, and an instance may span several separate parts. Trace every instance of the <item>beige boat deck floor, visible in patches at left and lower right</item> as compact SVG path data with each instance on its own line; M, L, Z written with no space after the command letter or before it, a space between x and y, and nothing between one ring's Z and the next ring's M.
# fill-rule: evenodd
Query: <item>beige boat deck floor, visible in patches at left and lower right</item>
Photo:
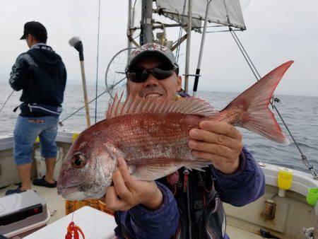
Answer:
M4 187L0 190L0 197L4 197L6 190L15 189L16 185L11 185L8 187ZM51 214L51 218L49 219L49 223L53 223L57 221L59 218L65 216L65 199L63 199L59 194L57 194L56 188L47 188L47 187L39 187L33 185L33 190L40 194L47 201L47 207ZM67 226L67 225L66 225ZM65 227L66 227L65 226ZM236 228L235 226L227 226L226 233L230 236L230 238L237 239L257 239L261 238L260 235L255 235L253 233L249 233L240 228Z

